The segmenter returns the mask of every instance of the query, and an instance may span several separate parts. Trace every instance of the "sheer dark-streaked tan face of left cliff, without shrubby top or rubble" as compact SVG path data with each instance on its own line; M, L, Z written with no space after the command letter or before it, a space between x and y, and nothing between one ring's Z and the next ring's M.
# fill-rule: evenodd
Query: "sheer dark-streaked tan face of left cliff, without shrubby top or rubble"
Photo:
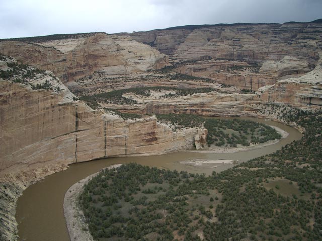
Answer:
M0 173L192 147L203 130L173 132L154 117L124 121L46 90L0 82Z

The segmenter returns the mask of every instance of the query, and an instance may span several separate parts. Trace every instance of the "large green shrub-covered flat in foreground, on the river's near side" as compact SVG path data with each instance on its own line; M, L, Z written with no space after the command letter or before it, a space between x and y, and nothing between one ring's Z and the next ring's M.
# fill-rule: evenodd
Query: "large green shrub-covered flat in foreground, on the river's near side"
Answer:
M322 115L297 112L299 141L211 176L137 164L81 194L96 240L322 240Z

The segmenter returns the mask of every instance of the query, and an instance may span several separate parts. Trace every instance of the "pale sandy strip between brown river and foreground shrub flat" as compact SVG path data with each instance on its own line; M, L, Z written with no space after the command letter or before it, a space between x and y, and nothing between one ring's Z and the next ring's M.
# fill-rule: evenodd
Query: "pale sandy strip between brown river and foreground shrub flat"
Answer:
M117 168L122 164L116 164L109 167ZM66 192L64 198L64 215L66 219L67 229L69 233L70 240L77 240L77 241L93 241L93 237L89 232L88 225L85 223L85 217L81 210L81 207L78 205L78 196L81 194L82 189L85 184L87 184L92 177L95 177L100 172L96 172L86 178L82 179L81 181L72 185Z

